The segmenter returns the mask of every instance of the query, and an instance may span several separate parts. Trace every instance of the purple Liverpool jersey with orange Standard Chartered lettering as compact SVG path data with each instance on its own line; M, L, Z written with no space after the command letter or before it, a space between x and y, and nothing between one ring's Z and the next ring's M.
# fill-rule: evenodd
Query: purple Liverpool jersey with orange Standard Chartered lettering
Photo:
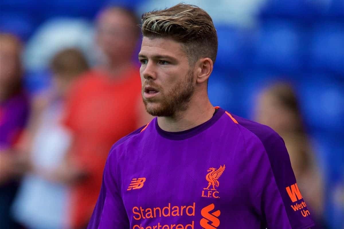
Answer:
M119 140L89 229L307 229L314 226L282 138L222 108L166 132L154 118Z

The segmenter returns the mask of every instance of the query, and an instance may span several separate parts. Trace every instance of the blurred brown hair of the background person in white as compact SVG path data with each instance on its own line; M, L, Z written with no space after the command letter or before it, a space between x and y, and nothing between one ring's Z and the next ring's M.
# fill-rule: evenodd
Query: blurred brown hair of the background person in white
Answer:
M89 67L80 50L67 48L55 54L50 62L50 68L58 76L72 79L88 70Z

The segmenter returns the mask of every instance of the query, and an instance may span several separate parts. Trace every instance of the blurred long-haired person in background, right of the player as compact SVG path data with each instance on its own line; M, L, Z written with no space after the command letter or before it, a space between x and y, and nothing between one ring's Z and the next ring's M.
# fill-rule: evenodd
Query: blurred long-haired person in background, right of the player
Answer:
M299 102L290 84L270 85L258 96L256 121L270 126L284 140L302 196L312 210L316 228L323 225L324 187L309 137L305 131Z

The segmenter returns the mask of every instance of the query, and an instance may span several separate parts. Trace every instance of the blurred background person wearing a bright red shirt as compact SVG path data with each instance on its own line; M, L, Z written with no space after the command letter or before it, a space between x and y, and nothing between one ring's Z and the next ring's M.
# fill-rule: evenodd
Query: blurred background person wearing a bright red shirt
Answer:
M110 7L96 22L99 65L77 80L69 93L64 123L73 133L69 162L87 178L71 179L68 209L72 228L86 228L96 204L105 161L111 146L151 120L144 109L139 69L132 63L138 38L132 12Z

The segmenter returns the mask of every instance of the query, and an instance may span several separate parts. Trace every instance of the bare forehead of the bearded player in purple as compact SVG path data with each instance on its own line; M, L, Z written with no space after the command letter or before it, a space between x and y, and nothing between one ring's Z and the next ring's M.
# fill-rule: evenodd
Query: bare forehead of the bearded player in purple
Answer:
M140 55L171 56L176 59L187 59L182 44L170 38L143 37Z

